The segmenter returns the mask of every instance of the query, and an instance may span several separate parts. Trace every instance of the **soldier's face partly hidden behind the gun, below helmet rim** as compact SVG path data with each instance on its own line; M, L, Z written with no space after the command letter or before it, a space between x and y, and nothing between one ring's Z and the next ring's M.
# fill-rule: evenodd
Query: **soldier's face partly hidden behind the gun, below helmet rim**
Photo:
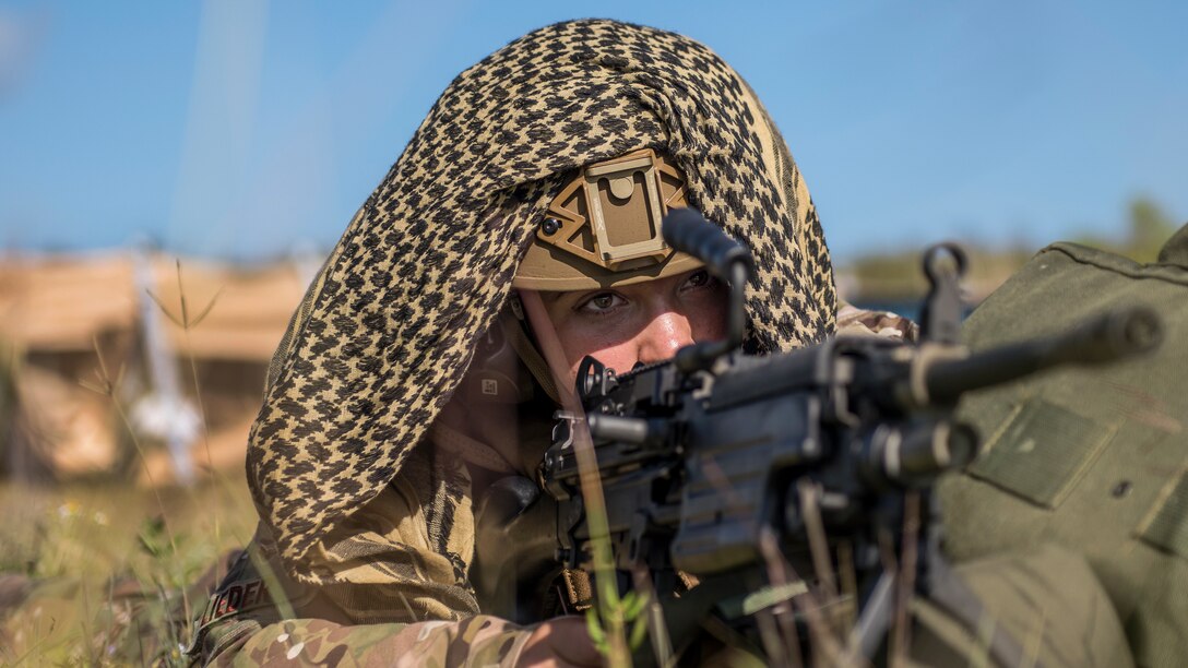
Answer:
M539 296L571 387L586 355L621 373L671 358L695 341L723 339L727 292L706 270L695 270L623 288Z

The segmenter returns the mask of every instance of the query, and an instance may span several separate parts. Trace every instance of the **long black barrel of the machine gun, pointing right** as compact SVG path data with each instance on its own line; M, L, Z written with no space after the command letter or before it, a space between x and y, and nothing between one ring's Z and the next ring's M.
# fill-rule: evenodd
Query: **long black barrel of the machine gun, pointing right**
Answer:
M954 402L963 392L1064 364L1101 364L1154 349L1159 317L1146 307L1114 310L1066 334L1012 344L965 359L937 360L924 372L928 397Z

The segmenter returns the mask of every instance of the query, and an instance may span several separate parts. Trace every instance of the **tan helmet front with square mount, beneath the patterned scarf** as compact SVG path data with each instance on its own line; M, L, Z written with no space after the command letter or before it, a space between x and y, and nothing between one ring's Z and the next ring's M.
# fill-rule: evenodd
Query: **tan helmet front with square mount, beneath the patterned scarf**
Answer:
M651 149L592 163L549 204L513 285L595 290L697 269L661 237L669 209L687 206L684 175Z

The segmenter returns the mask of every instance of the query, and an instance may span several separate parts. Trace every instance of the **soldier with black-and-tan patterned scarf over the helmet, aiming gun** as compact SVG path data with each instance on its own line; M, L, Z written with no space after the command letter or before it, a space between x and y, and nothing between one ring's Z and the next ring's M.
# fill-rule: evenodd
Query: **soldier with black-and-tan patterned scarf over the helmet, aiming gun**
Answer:
M532 477L584 354L630 368L720 336L722 286L659 237L663 214L687 204L754 254L751 352L834 333L804 182L710 50L580 20L463 71L273 358L247 460L259 529L210 598L194 656L598 663L579 617L489 615L499 606L468 579L482 552L474 509L491 480ZM545 338L563 368L543 361Z

